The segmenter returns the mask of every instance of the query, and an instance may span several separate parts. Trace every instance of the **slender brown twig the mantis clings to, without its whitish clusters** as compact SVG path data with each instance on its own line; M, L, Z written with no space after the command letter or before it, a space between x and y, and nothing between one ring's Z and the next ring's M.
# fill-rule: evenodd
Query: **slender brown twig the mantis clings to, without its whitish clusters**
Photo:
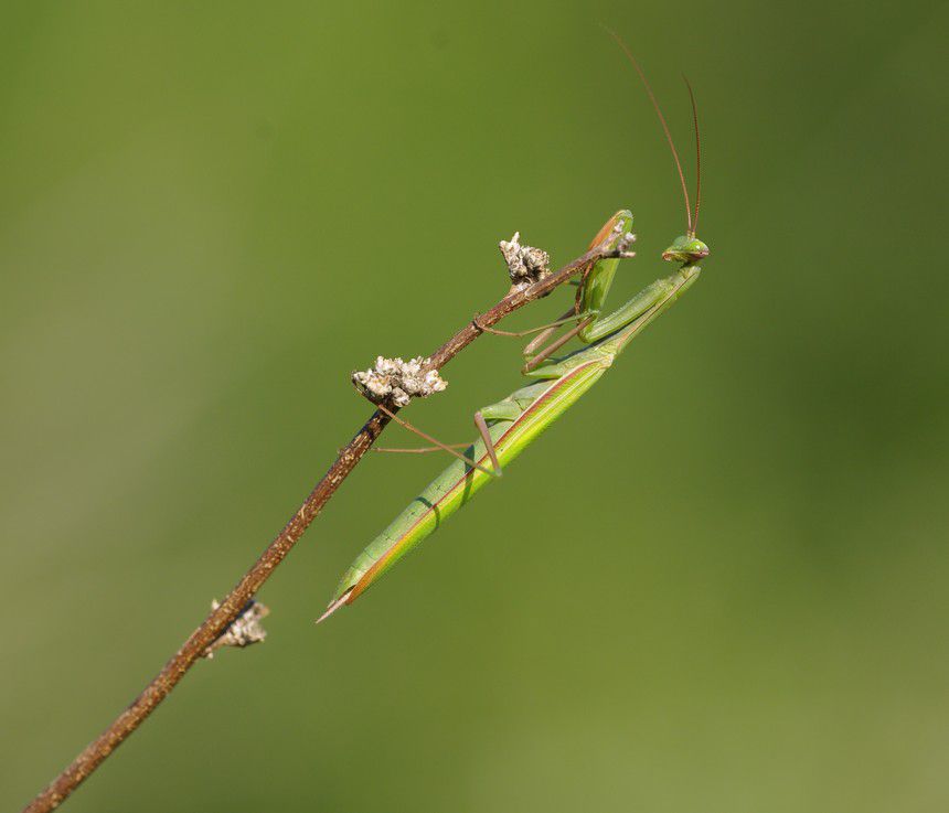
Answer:
M478 318L477 325L469 322L442 344L433 354L428 366L433 370L440 370L473 342L484 328L497 324L519 308L546 296L574 275L584 271L596 260L604 257L625 256L620 252L606 249L605 245L606 243L591 248L555 274L551 274L533 285L511 288L508 296ZM290 517L284 529L277 534L277 537L260 554L257 561L221 605L213 609L202 624L191 633L181 649L164 664L161 672L132 700L131 705L105 731L89 742L78 757L23 809L23 813L45 813L57 807L126 737L146 720L158 704L174 688L185 672L227 631L244 611L247 602L254 598L277 565L297 544L309 524L320 513L342 481L349 477L349 473L356 467L363 454L369 451L388 422L390 417L380 409L373 413L353 439L340 450L333 464L303 501L299 511Z

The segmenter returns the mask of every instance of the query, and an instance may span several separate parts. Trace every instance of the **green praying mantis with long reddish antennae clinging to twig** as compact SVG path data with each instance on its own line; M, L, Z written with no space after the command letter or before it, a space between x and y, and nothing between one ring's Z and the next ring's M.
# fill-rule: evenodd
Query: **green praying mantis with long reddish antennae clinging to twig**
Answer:
M580 279L575 304L564 317L550 325L523 333L489 331L504 335L526 335L541 331L537 338L524 349L526 363L522 372L527 377L536 379L535 383L476 413L474 422L480 438L469 445L463 454L437 441L435 441L437 446L431 449L416 450L444 449L459 459L452 461L356 557L340 580L329 607L318 619L318 623L342 606L355 601L409 550L430 536L445 520L466 505L484 484L500 475L504 466L514 460L541 432L596 384L619 353L699 278L702 270L699 263L708 256L708 247L695 236L701 195L701 151L699 117L692 87L686 79L695 130L694 214L690 205L689 190L679 153L646 75L626 44L616 34L609 33L619 43L646 86L672 151L682 184L686 233L676 237L662 253L662 259L679 263L679 268L669 277L658 279L641 290L622 307L611 313L604 313L603 308L612 285L619 258L632 256L632 253L625 250L635 239L630 232L632 215L629 211L621 210L607 221L590 244L590 248L600 246L604 249L603 254L610 257L601 258L586 269ZM568 322L575 322L575 324L564 335L546 346L541 346L559 325ZM585 346L561 359L551 357L574 336ZM395 417L391 411L388 414ZM415 430L405 421L398 418L396 420ZM429 441L434 440L424 432L415 431Z

